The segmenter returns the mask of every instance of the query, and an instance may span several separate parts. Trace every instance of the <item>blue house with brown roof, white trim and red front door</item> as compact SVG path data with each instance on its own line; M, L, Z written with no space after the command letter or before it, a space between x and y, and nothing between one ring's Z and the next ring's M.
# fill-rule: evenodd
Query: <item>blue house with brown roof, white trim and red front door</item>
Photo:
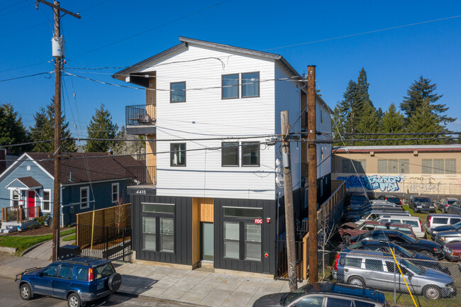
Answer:
M54 161L51 155L48 152L26 152L0 174L0 207L10 207L2 210L7 213L7 216L1 216L3 224L12 220L11 217L19 212L18 208L26 220L33 220L38 214L52 216ZM130 156L115 157L99 152L71 155L62 160L61 225L76 223L76 213L129 202L126 167L145 165Z

